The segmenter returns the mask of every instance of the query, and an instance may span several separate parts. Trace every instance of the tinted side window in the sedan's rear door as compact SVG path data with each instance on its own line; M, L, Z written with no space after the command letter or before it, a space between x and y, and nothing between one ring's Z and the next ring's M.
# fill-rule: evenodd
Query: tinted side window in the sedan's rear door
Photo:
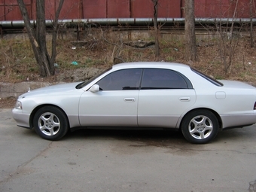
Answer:
M169 69L145 69L142 89L187 89L187 83L178 72Z

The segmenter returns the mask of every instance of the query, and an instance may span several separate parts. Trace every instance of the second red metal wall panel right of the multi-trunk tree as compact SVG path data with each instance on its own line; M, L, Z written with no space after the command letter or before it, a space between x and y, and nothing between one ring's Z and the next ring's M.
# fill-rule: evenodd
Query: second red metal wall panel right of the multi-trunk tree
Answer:
M107 0L83 0L84 18L106 18Z

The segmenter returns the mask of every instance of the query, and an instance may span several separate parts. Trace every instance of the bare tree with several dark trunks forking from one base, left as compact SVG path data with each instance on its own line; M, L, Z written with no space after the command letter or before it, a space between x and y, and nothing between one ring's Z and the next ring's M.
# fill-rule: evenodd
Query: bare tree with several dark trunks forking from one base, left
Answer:
M36 0L36 26L30 23L30 18L23 0L17 0L20 7L20 12L23 15L23 20L26 26L26 31L29 35L29 41L32 44L32 49L35 54L36 62L39 66L41 77L49 77L54 75L54 62L56 59L56 36L58 28L59 13L62 9L64 0L59 0L59 6L53 20L53 36L51 42L51 56L47 51L46 41L46 25L45 25L45 10L44 0Z

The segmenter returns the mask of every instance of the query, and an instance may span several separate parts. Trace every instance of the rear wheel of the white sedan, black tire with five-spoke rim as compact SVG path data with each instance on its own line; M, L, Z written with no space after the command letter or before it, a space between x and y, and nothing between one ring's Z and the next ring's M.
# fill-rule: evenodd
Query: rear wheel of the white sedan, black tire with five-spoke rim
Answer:
M218 134L218 119L211 111L202 109L186 114L181 122L181 132L188 142L204 144Z

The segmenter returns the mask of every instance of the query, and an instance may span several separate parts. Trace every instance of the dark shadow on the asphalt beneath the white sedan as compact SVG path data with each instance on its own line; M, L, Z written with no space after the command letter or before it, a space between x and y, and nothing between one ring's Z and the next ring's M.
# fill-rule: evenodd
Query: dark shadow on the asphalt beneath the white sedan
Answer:
M234 142L238 140L248 139L254 136L248 128L231 129L219 131L213 143ZM145 145L157 147L166 147L170 145L194 145L184 139L181 131L177 130L76 130L69 132L64 139L117 139L130 142L144 142Z

